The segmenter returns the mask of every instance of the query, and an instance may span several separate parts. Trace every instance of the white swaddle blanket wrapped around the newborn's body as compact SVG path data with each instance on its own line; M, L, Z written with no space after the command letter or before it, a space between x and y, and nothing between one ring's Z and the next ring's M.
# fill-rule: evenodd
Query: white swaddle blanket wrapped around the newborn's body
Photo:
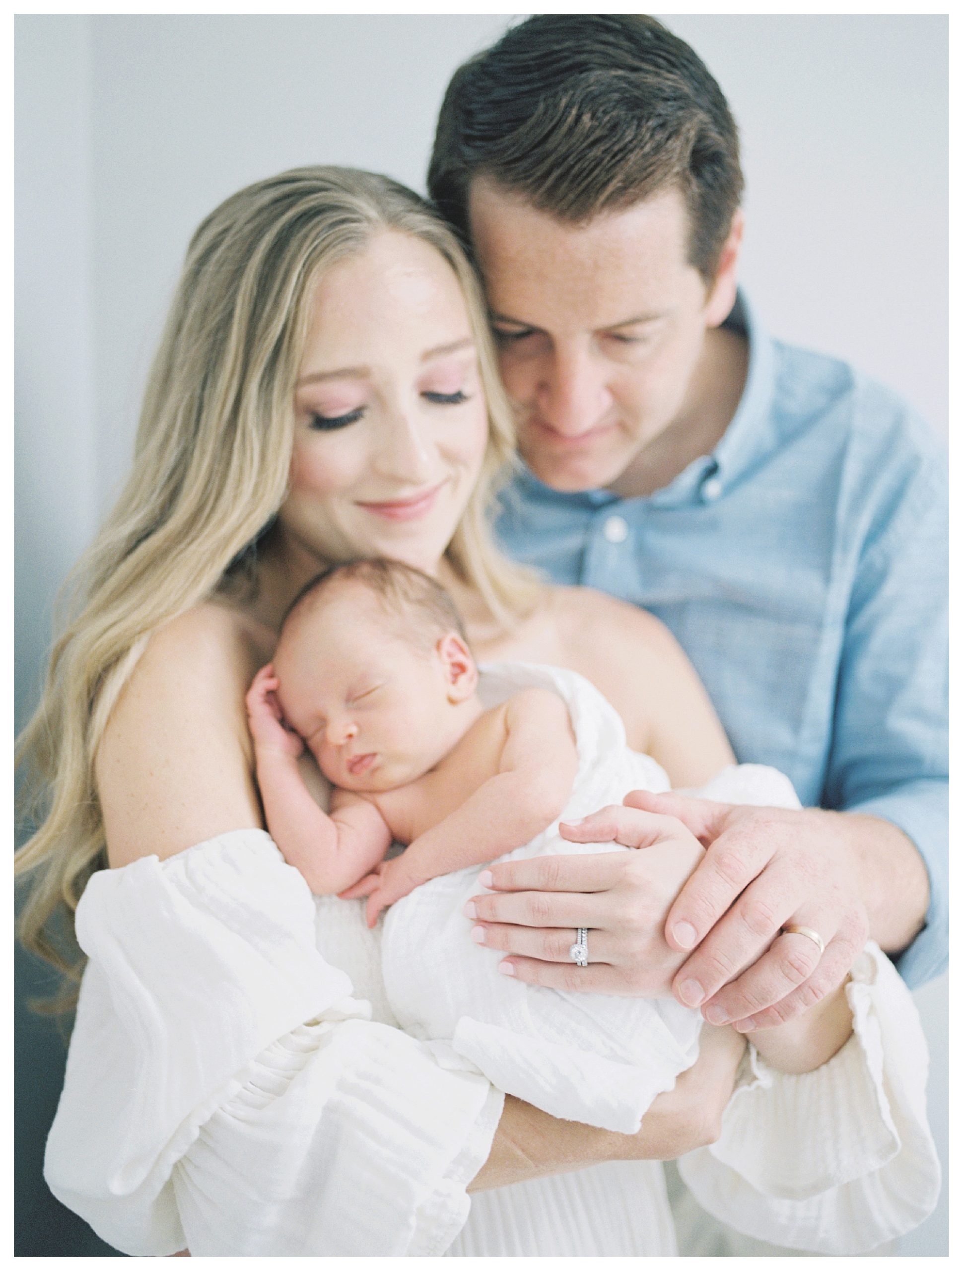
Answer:
M581 675L521 662L482 669L479 693L487 707L532 686L563 698L576 733L578 771L559 820L621 803L633 789L670 789L664 770L628 747L620 717ZM789 779L758 764L723 769L699 793L723 802L799 806ZM556 820L497 859L630 850L615 843L568 843ZM389 910L382 970L399 1023L424 1041L448 1043L495 1087L553 1116L635 1132L654 1097L695 1063L699 1012L668 996L563 993L502 975L504 955L475 944L462 913L484 890L478 882L484 868L433 878ZM591 934L588 944L591 958Z

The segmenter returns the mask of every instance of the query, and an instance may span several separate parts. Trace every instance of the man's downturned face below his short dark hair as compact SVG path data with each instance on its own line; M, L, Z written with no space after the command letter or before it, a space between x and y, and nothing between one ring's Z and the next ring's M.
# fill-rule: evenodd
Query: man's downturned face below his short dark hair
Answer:
M656 438L671 446L673 428L699 409L705 332L734 296L734 277L710 289L687 262L681 193L570 225L476 178L470 217L535 475L562 491L595 489L644 464Z

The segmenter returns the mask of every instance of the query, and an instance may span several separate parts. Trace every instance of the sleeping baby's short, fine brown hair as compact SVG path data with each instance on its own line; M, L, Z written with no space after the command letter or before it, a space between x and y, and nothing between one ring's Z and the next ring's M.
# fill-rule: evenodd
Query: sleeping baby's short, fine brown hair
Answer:
M428 632L432 637L441 637L454 630L468 644L461 614L441 583L414 566L384 557L348 561L315 574L287 606L282 628L309 597L318 599L330 587L351 582L366 587L390 618L410 615L414 622L410 632L405 629L404 634L410 636L414 643Z

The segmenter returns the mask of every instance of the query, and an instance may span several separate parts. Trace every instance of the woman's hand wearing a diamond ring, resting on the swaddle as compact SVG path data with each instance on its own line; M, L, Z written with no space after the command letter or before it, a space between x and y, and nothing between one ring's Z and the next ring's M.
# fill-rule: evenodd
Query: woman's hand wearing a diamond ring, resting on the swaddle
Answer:
M640 852L535 857L493 864L474 896L473 935L511 955L501 969L553 989L667 996L686 955L664 938L666 915L704 849L672 816L606 807L559 833L573 843L621 843ZM588 966L572 961L576 929L588 928Z

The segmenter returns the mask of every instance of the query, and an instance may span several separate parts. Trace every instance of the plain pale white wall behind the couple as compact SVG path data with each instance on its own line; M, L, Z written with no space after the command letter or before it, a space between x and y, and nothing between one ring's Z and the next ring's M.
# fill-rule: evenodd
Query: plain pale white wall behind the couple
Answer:
M187 239L220 200L304 163L423 189L443 88L509 19L17 19L18 717L51 596L126 470ZM739 119L743 276L766 325L842 355L946 430L948 22L664 20ZM946 984L919 995L946 1159ZM946 1252L945 1200L903 1240Z

